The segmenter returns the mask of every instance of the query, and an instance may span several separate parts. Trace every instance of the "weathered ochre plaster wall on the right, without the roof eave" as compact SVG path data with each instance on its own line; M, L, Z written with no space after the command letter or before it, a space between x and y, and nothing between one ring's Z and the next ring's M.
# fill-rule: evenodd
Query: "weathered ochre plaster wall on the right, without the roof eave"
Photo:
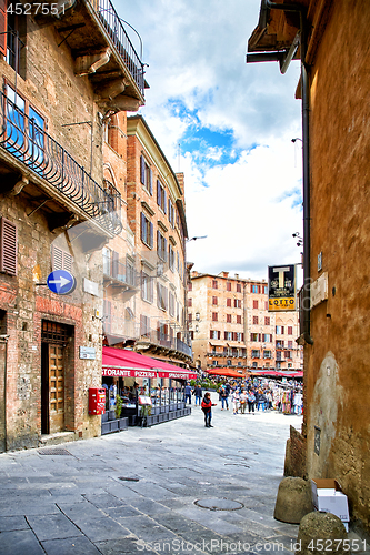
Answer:
M370 2L336 0L311 79L311 276L328 301L306 346L310 477L334 477L370 526ZM314 426L320 454L313 451Z

